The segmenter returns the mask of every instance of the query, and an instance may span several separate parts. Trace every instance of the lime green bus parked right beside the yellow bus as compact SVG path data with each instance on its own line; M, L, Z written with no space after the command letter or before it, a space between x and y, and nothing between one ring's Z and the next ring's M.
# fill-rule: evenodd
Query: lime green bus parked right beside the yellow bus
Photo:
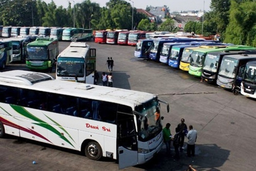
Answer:
M214 51L239 51L239 50L256 50L256 48L252 46L244 46L244 45L229 45L226 48L209 48L209 49L197 49L194 50L191 54L191 60L189 65L189 74L194 76L202 76L202 68L205 61L205 56L209 52Z

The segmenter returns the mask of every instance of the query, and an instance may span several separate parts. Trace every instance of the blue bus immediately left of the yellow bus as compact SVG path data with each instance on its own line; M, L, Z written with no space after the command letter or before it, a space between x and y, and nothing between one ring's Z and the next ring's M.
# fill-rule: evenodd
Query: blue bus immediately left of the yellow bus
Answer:
M216 43L216 42L209 42L209 41L204 41L204 42L190 42L189 45L175 45L172 46L172 49L169 54L169 59L168 59L168 65L172 66L173 68L179 68L180 66L180 59L183 53L184 48L188 47L198 47L198 46L218 46L218 45L225 45L222 43Z

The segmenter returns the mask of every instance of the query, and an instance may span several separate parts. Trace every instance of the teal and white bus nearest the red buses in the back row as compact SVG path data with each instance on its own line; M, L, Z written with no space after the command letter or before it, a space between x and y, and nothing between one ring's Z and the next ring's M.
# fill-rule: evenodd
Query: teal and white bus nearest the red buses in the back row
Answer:
M93 38L93 30L85 28L67 28L63 30L62 40L66 41L84 41Z

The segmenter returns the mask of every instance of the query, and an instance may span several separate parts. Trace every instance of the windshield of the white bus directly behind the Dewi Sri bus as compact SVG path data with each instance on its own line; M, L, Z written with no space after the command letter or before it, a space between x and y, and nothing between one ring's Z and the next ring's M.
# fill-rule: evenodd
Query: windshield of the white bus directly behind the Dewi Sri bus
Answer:
M57 76L79 76L85 75L84 58L59 57L57 60Z

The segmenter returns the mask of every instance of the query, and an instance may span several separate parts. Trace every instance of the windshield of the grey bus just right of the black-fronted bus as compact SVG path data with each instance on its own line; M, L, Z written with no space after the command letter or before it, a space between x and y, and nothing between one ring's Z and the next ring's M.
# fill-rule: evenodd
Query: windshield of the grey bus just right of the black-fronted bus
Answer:
M219 75L226 78L236 78L236 68L238 61L231 58L223 58L221 67L219 69Z

